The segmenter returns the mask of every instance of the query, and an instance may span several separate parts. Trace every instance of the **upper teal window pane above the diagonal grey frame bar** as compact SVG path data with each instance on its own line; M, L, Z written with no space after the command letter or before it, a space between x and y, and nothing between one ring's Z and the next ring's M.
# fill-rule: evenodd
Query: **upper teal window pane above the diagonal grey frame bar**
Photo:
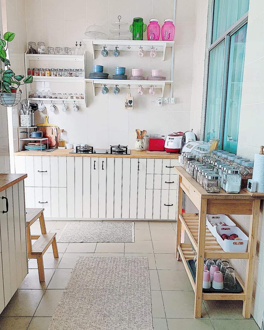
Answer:
M249 0L215 0L212 43L248 12Z

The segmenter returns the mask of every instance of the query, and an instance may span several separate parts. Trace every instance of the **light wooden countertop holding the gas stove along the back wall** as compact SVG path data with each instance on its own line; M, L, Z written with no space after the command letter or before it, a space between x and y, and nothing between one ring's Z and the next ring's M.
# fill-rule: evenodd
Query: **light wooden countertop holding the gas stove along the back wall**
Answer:
M67 157L116 157L116 158L164 158L164 159L178 159L178 153L164 153L164 154L151 154L144 151L131 150L130 155L111 155L111 154L91 154L91 153L69 153L73 149L57 149L51 152L41 151L19 151L15 152L15 156L67 156Z

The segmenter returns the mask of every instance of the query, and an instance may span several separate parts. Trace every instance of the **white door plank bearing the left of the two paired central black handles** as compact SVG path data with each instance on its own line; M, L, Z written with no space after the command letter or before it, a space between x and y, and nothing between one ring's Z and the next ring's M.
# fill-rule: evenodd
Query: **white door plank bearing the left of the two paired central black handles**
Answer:
M91 159L91 218L98 218L99 158Z

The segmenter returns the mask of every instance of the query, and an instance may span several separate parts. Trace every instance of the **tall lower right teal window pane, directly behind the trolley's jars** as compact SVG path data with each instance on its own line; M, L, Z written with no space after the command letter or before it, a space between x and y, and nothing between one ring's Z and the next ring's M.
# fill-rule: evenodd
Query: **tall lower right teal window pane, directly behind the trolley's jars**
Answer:
M247 24L230 37L223 149L237 152Z

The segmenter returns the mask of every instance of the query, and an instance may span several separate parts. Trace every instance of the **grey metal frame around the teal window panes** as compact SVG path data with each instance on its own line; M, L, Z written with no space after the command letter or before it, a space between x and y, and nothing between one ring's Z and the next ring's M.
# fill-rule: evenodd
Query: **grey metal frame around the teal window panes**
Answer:
M207 61L206 61L206 80L205 80L205 102L204 102L204 116L203 116L203 140L205 140L205 123L206 123L206 112L207 112L207 93L208 93L208 81L209 81L209 60L210 51L217 47L219 43L223 40L225 42L224 49L224 65L223 65L223 77L222 77L222 90L221 90L221 110L220 110L220 120L219 120L219 146L218 148L223 148L223 135L225 126L225 109L226 109L226 97L227 97L227 78L229 69L229 57L230 57L230 39L233 34L235 34L240 28L248 23L248 12L239 18L229 29L227 29L219 38L212 43L213 40L213 21L214 21L214 0L212 0L211 15L210 15L210 27L208 29L209 33L209 47L207 49Z

